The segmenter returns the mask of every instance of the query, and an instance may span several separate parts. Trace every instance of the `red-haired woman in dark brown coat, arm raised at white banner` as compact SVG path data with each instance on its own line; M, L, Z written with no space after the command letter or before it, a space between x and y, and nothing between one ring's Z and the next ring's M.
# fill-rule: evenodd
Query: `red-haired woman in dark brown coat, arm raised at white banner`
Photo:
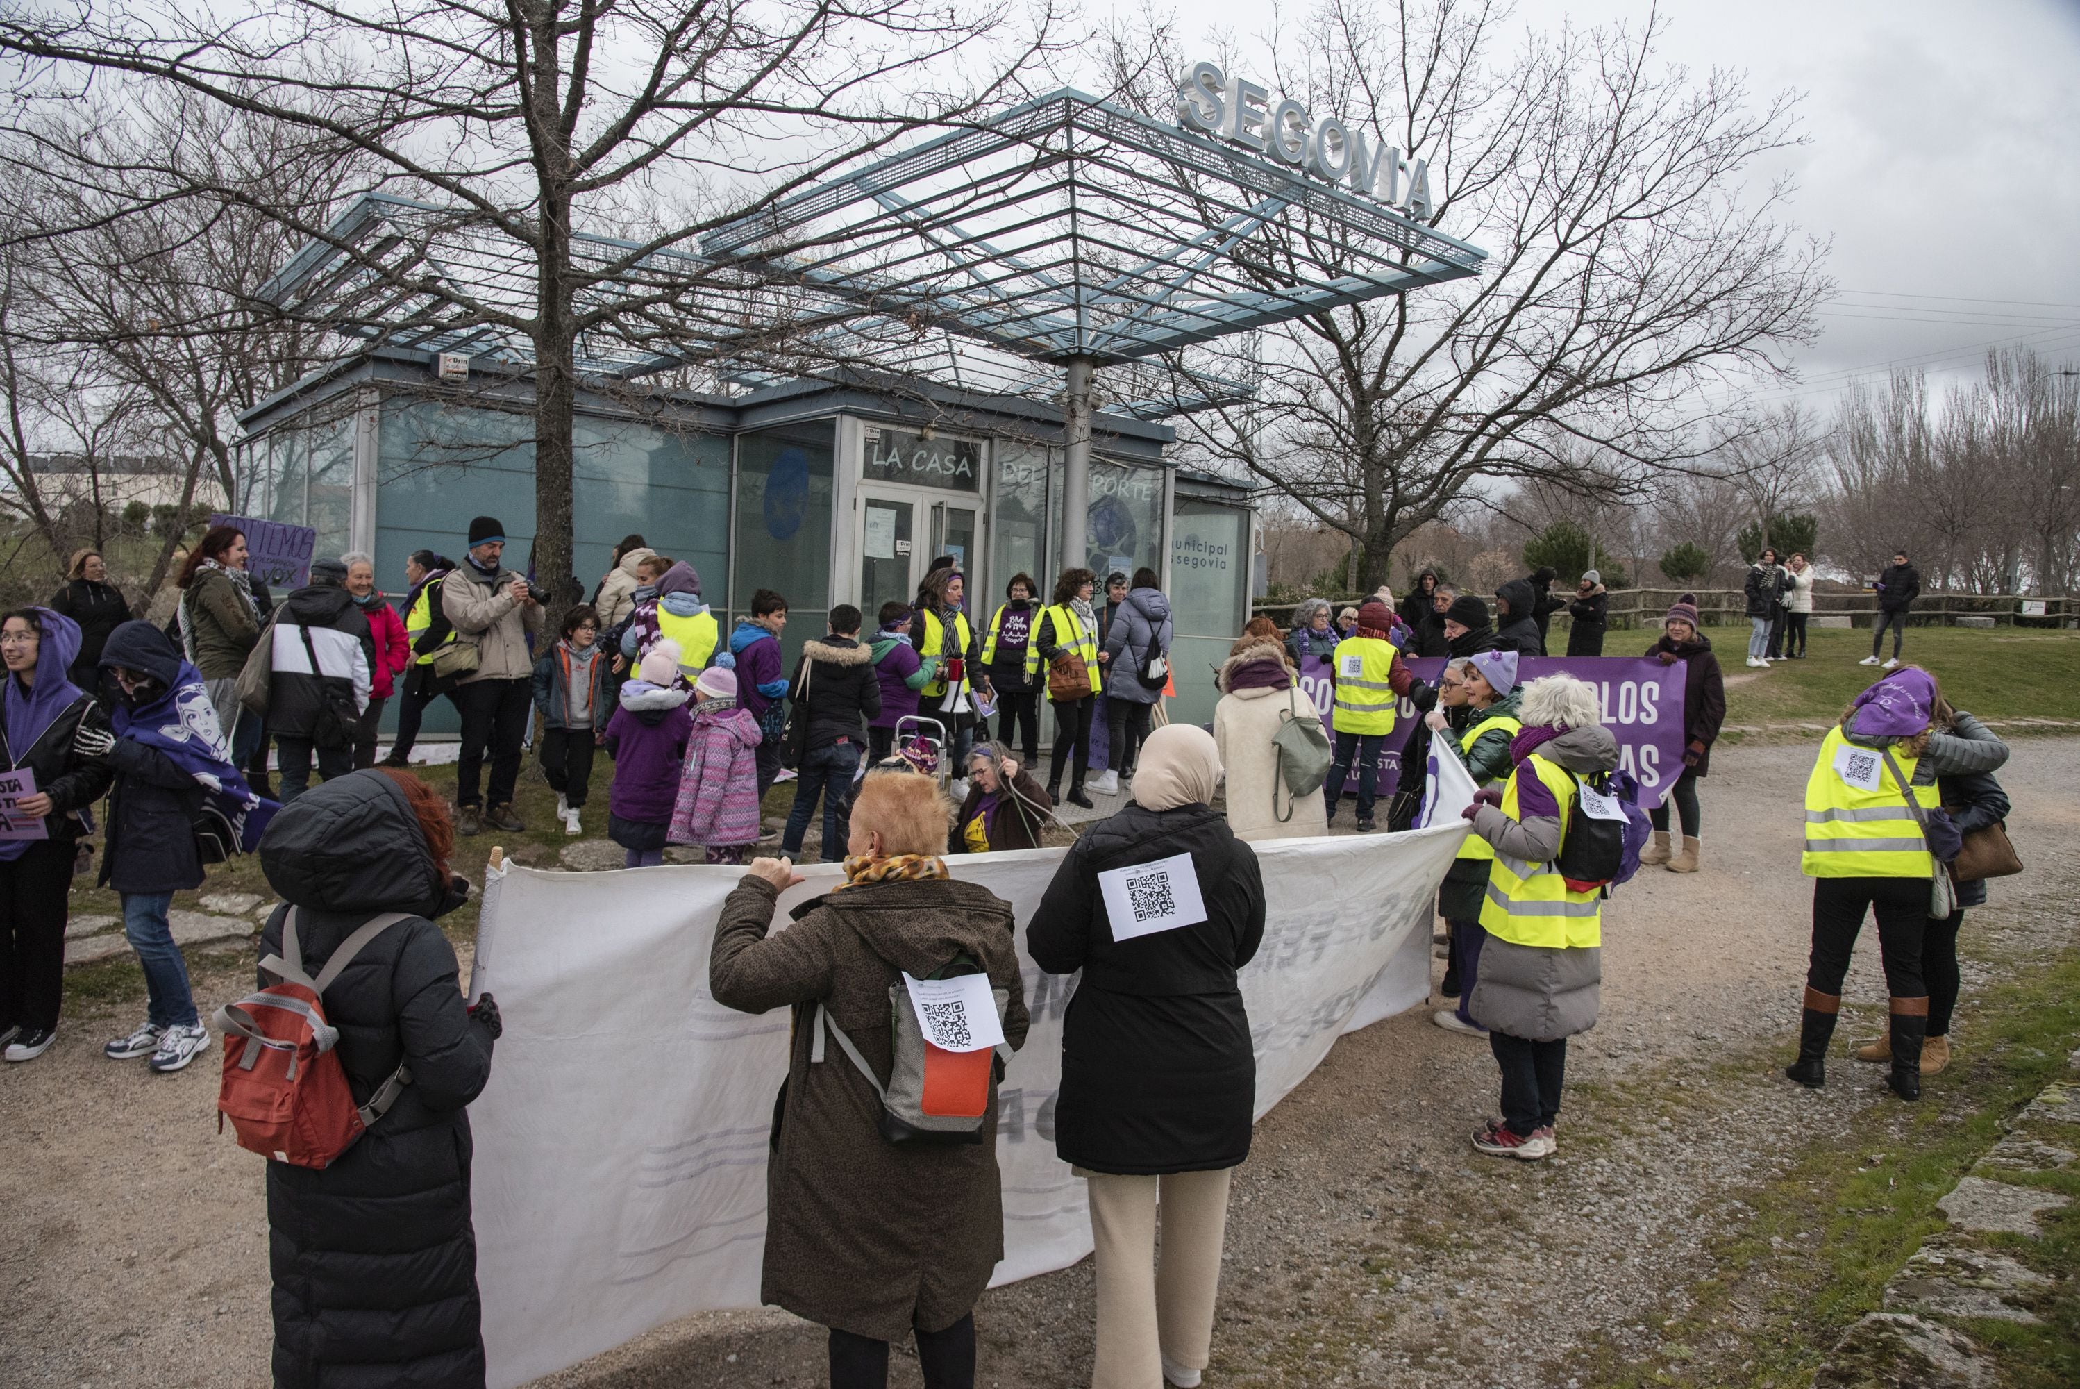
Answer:
M930 778L869 774L851 832L844 882L797 907L778 936L768 934L778 896L803 880L786 859L755 859L722 905L709 956L722 1006L795 1008L765 1164L759 1298L830 1327L832 1389L882 1389L888 1343L913 1331L928 1389L967 1389L976 1300L1005 1256L1003 1067L984 1063L982 1121L961 1142L890 1129L903 1123L890 996L903 996L905 977L984 973L1005 994L994 1019L1005 1044L1023 1046L1011 902L946 875L946 798Z

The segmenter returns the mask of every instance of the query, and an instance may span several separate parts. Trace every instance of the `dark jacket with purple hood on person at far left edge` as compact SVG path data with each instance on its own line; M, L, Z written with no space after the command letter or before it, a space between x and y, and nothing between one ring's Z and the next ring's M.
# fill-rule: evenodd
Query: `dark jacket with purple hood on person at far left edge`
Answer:
M108 784L114 780L108 765L85 761L73 753L73 738L81 726L108 728L108 715L71 678L79 661L79 626L62 613L44 609L42 628L29 697L21 697L15 672L0 672L0 680L12 686L6 690L6 717L0 717L0 767L35 774L35 788L50 796L44 830L52 840L64 842L69 855L71 842L92 830L87 809L108 792ZM100 670L94 672L89 684L100 684ZM40 726L17 726L17 711ZM29 844L33 840L4 840L0 842L0 859L19 859Z

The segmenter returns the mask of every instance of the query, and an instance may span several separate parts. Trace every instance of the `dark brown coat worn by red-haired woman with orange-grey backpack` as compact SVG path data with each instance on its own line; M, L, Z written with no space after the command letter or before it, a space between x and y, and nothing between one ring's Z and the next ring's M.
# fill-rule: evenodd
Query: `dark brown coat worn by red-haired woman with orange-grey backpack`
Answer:
M709 990L743 1013L792 1006L788 1079L765 1177L759 1295L824 1327L876 1341L944 1331L967 1316L1005 1254L996 1173L996 1087L980 1144L890 1144L880 1100L826 1040L809 1063L815 1002L886 1083L888 986L959 952L1011 990L1005 1042L1025 1044L1011 905L971 882L847 888L805 902L768 936L776 892L745 877L722 907Z

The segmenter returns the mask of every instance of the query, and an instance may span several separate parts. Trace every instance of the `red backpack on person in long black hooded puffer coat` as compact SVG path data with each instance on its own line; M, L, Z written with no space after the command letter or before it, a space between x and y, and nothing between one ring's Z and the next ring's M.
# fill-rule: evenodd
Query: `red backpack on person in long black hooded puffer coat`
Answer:
M281 923L281 954L260 961L260 969L279 984L216 1011L216 1027L225 1033L218 1133L231 1119L239 1148L322 1169L397 1102L412 1083L404 1065L368 1096L368 1104L354 1104L347 1073L333 1052L339 1029L324 1021L324 990L370 940L408 919L401 911L372 917L339 942L312 979L304 973L304 950L295 940L295 907L289 909Z

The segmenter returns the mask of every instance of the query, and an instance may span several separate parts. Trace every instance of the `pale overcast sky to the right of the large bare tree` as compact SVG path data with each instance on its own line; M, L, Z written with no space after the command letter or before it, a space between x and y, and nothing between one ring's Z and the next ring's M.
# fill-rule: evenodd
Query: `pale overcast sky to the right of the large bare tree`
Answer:
M1265 29L1194 0L1181 33ZM1283 6L1300 15L1304 4ZM1520 0L1518 25L1643 21L1647 0ZM2080 0L1662 0L1670 62L1803 94L1793 218L1832 241L1826 333L1797 353L1822 412L1851 372L1976 374L1986 343L2080 364ZM1190 50L1190 42L1188 42Z

